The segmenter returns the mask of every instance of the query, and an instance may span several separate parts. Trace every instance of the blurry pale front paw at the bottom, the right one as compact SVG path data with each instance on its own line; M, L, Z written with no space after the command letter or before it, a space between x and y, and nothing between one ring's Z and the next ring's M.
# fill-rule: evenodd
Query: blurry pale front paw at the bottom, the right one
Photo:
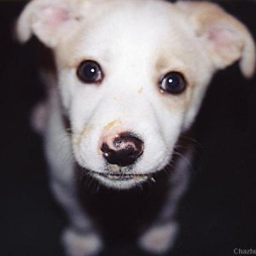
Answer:
M149 253L166 253L175 241L177 223L155 225L139 238L139 245Z

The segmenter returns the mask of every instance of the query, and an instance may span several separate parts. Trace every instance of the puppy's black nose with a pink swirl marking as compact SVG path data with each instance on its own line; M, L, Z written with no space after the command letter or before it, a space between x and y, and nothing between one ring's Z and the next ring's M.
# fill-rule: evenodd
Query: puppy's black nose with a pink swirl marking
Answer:
M110 145L102 143L102 153L109 164L131 166L143 154L143 141L130 132L113 137Z

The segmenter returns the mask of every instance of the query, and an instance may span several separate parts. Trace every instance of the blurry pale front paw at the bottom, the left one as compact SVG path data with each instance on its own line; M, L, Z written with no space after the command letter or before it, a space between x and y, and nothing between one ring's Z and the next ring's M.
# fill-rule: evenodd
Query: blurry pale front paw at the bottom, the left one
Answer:
M92 256L102 248L102 241L96 233L83 234L71 228L63 232L62 244L67 256Z

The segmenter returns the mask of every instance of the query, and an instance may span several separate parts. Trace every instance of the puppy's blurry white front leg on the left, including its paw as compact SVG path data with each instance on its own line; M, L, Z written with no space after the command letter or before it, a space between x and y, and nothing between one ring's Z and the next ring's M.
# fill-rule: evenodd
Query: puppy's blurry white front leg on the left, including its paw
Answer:
M102 241L79 203L70 136L63 122L56 90L50 91L45 106L48 114L44 142L50 169L50 187L69 220L62 243L67 256L94 255L101 249Z

